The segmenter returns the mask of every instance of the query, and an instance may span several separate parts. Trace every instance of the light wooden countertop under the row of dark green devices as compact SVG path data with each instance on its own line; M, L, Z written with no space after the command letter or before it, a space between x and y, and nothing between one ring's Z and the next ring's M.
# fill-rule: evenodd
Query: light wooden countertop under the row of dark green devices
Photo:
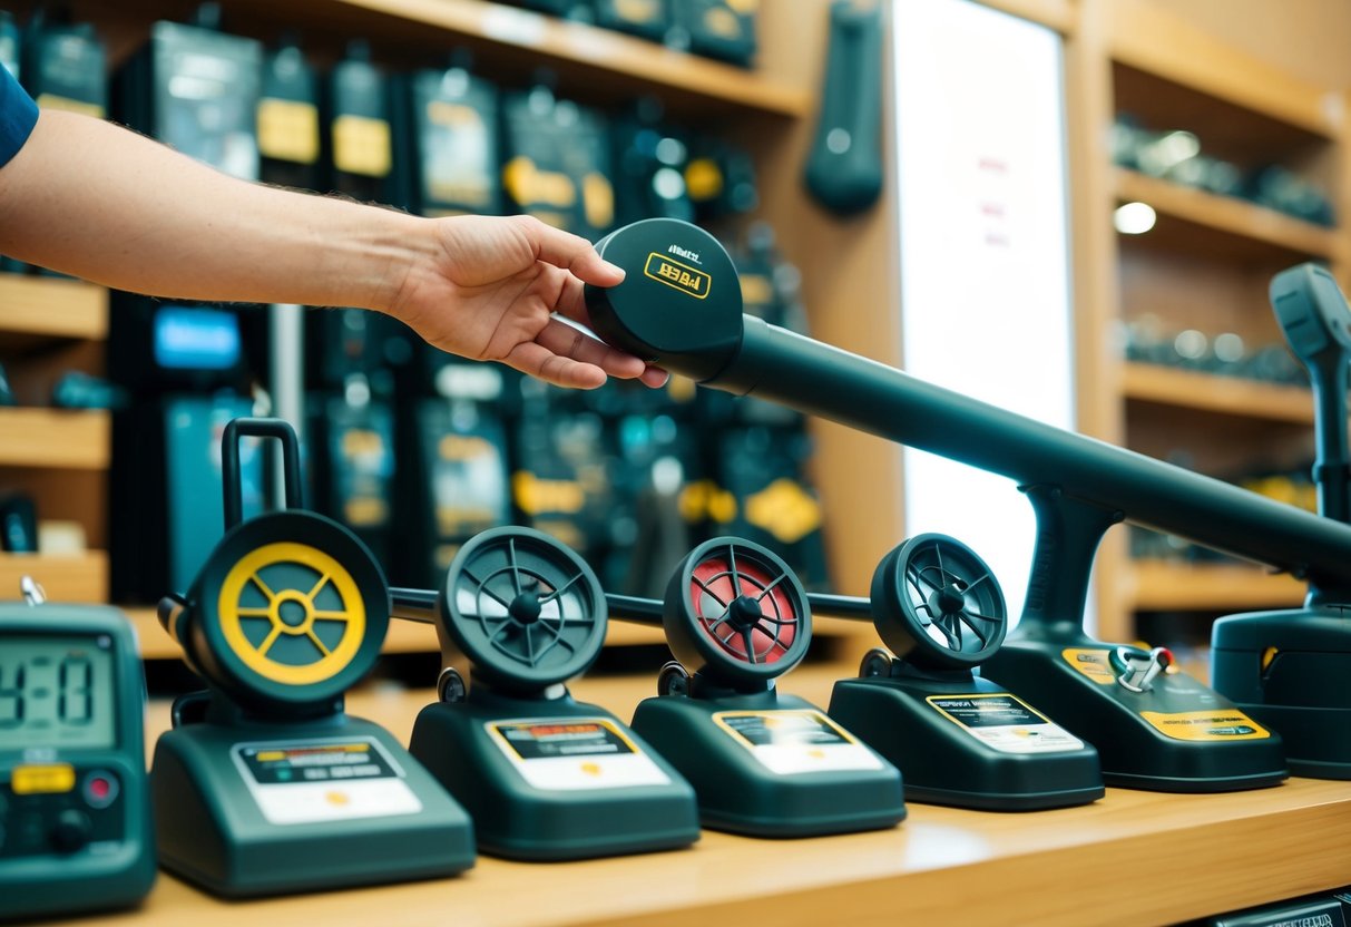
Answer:
M782 688L824 705L840 666ZM653 680L584 680L628 718ZM367 689L351 713L404 739L426 691ZM168 726L153 704L149 735ZM1081 808L994 813L911 804L897 828L802 841L705 831L689 850L573 863L480 858L450 880L224 903L173 877L134 912L81 924L1167 924L1351 884L1351 782L1166 795L1108 789Z

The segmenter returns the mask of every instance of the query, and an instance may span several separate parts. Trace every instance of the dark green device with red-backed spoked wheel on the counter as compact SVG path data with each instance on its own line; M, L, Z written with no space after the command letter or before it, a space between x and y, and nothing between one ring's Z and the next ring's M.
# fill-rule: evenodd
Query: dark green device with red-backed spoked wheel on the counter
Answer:
M777 554L713 538L677 565L663 603L609 601L630 620L661 613L678 662L662 670L661 695L639 703L634 730L690 781L707 827L811 836L905 818L896 766L775 689L812 638L807 592Z

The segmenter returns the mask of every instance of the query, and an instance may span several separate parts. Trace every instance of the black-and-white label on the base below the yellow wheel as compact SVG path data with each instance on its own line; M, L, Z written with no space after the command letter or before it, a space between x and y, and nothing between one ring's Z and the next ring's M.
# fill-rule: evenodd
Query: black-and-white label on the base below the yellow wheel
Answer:
M231 758L272 824L415 815L423 805L372 738L236 743Z

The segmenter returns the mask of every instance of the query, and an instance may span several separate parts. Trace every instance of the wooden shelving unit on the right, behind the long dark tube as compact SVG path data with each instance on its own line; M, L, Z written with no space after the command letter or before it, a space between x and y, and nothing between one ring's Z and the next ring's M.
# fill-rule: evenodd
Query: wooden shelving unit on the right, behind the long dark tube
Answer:
M1162 4L1084 0L1079 12L1069 82L1077 86L1082 427L1212 476L1298 468L1310 453L1308 389L1125 362L1113 335L1152 316L1165 331L1278 343L1271 276L1321 261L1346 280L1344 232L1113 166L1106 139L1119 114L1150 130L1188 130L1202 151L1246 169L1281 165L1320 182L1340 207L1343 99L1225 46ZM1113 231L1112 212L1128 201L1154 207L1151 231ZM1121 538L1104 545L1098 559L1102 635L1112 639L1135 636L1139 611L1247 611L1296 604L1302 592L1256 565L1132 563Z

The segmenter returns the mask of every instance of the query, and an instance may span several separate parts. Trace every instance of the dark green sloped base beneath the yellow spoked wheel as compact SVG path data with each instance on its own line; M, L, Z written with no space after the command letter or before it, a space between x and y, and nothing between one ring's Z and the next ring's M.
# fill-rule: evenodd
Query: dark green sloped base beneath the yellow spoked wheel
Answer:
M155 746L155 815L173 873L247 897L473 865L469 816L378 724L200 707L216 716L184 720Z

